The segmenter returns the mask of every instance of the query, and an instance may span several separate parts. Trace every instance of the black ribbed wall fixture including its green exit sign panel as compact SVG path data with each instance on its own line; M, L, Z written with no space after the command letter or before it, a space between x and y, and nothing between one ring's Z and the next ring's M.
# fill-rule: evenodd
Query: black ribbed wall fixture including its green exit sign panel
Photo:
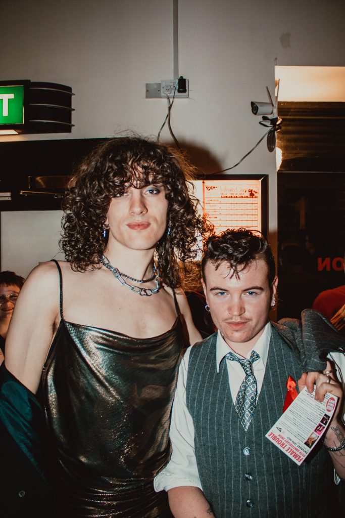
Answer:
M72 95L64 84L0 81L0 135L71 133Z

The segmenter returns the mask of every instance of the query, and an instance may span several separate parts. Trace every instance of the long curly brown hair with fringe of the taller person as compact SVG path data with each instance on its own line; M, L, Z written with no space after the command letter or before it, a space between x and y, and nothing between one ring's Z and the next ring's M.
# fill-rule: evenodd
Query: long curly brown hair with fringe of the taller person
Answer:
M197 256L200 236L213 228L198 213L198 200L191 194L193 172L182 153L160 142L137 136L102 142L78 166L63 202L59 244L66 261L75 271L99 268L107 246L103 224L112 197L130 186L163 185L169 202L168 224L157 243L155 259L162 282L182 287L185 262Z

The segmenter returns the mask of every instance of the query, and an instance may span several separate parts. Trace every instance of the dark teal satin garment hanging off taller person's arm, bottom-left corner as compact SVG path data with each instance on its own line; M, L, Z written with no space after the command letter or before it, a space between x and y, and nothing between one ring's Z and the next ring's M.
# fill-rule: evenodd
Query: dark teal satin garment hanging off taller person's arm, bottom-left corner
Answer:
M51 448L35 396L0 366L0 444L2 518L59 517L48 483Z

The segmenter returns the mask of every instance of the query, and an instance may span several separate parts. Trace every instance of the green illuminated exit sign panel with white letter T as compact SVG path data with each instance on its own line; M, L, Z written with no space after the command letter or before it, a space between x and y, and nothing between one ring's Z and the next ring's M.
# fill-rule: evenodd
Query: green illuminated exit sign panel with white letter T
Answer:
M24 124L24 85L0 86L0 124Z

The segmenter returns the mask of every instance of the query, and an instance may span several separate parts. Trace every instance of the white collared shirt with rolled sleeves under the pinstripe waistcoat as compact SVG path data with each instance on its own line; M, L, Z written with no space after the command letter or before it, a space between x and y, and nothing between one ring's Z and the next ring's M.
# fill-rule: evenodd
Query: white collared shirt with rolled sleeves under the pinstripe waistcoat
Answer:
M253 350L260 355L260 359L252 364L254 376L257 379L258 394L260 394L264 379L269 341L271 340L271 329L271 323L268 322L263 334L253 348ZM181 365L179 366L170 425L170 439L173 447L172 456L168 465L154 479L154 487L157 492L161 490L168 491L173 487L179 486L195 486L202 490L196 456L194 453L194 425L186 405L186 383L190 350L191 347L187 349ZM231 351L231 348L218 331L216 341L217 372L219 372L220 363L229 351ZM250 354L251 351L248 353L248 358L250 357ZM345 354L332 353L329 354L329 358L336 364L338 378L343 384L343 389L345 389ZM227 361L227 368L231 397L235 403L237 392L245 374L242 366L238 362ZM336 477L337 483L338 480L340 479Z

